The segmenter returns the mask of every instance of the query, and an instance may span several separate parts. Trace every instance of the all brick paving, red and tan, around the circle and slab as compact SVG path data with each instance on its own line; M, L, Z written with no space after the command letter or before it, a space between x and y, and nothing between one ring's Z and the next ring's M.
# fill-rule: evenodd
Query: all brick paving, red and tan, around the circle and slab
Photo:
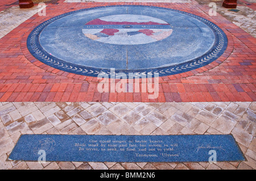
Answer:
M20 14L10 16L7 23L2 14L8 16L11 10L18 10L18 3L0 2L0 169L255 169L256 39L253 27L249 29L246 25L247 20L236 23L224 9L217 16L209 16L208 5L194 0L47 2L47 16L36 14L34 7L24 10L29 16L15 11ZM238 9L255 10L255 3L250 3ZM202 16L224 30L228 48L203 68L161 77L158 99L147 99L147 92L100 93L96 89L97 78L51 68L28 52L27 36L38 24L65 12L109 5L160 6ZM251 18L252 24L252 16L247 18ZM21 134L230 133L247 161L216 164L6 161Z

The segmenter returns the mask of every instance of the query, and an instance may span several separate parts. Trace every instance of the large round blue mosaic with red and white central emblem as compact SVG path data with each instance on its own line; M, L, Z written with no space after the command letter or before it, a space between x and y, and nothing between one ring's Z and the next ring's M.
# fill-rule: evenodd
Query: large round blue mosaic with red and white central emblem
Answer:
M32 55L53 68L129 78L200 68L220 57L227 44L225 33L200 16L134 5L68 12L43 22L27 39Z

